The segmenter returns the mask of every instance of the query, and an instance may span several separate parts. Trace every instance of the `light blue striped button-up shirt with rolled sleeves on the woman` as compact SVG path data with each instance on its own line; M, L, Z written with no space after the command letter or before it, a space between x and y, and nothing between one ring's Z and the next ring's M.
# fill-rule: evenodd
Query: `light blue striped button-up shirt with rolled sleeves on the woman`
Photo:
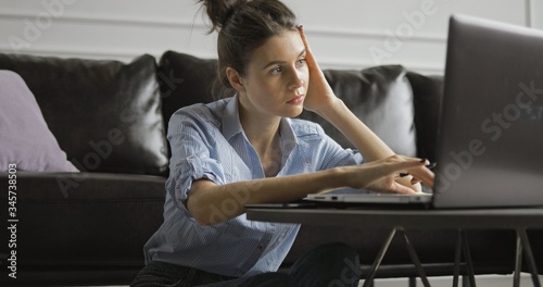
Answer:
M362 155L343 149L312 122L283 118L282 159L277 176L303 174L362 163ZM161 261L227 276L277 271L300 226L249 221L245 214L211 226L199 225L186 207L191 184L206 178L217 185L264 178L256 151L238 116L238 97L178 110L169 121L171 175L166 182L164 223L144 246L146 262ZM279 162L280 161L280 162ZM227 216L242 204L250 189L233 194L210 216Z

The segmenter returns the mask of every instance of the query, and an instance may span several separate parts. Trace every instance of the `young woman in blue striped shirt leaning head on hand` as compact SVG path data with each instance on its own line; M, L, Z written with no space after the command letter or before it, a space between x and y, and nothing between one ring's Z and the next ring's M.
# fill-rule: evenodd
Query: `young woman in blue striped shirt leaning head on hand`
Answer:
M356 286L357 254L341 244L276 273L300 226L248 221L244 204L341 187L414 194L420 180L432 185L427 161L394 154L336 97L283 3L201 2L218 32L218 80L235 96L172 116L164 223L144 246L147 265L132 286ZM303 109L359 152L291 118Z

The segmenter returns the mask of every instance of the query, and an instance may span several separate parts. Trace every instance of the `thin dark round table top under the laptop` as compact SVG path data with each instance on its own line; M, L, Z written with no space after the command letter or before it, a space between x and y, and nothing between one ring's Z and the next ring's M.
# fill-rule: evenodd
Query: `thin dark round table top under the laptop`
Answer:
M367 228L543 228L543 208L519 209L337 209L247 208L252 221Z

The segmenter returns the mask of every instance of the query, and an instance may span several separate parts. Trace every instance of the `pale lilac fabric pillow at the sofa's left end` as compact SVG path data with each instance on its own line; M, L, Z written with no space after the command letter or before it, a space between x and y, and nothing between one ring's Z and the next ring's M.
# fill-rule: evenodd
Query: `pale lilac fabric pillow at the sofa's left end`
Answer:
M47 126L20 75L0 70L0 171L78 172Z

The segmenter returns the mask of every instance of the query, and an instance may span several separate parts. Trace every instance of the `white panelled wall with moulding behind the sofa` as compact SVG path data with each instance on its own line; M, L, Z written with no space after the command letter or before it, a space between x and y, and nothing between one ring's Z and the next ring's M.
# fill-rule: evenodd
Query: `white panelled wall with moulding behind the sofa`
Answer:
M400 63L442 73L451 13L543 29L543 0L285 1L325 68ZM199 9L195 0L0 0L0 52L129 61L171 49L215 58Z

